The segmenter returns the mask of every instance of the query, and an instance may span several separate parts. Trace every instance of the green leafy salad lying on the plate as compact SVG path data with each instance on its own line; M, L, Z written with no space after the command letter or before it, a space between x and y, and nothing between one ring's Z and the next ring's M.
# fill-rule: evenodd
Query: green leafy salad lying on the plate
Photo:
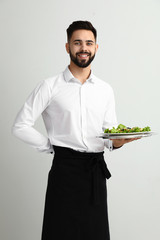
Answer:
M113 127L112 129L105 129L104 133L134 133L134 132L149 132L151 131L150 127L144 127L144 128L140 128L140 127L126 127L123 124L119 124L117 128Z

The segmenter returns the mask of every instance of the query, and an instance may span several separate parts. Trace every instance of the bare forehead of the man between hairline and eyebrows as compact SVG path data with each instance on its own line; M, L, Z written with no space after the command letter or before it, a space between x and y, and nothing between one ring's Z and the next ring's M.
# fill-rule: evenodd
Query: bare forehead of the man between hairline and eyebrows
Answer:
M93 32L85 29L74 31L71 37L71 41L74 41L75 39L80 39L82 41L86 41L86 40L95 41Z

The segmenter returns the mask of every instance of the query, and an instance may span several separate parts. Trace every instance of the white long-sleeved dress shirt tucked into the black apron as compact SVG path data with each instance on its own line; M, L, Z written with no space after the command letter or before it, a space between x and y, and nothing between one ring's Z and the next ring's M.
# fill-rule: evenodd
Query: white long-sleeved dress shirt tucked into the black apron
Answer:
M42 114L48 137L34 128ZM84 152L101 152L112 141L98 138L104 129L117 126L111 86L91 72L85 83L69 68L43 80L18 113L12 132L40 152L54 152L62 146Z

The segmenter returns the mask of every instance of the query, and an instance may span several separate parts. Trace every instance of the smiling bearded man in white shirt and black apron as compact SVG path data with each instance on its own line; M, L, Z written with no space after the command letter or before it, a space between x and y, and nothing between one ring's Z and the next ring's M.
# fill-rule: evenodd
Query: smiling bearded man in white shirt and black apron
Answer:
M117 126L112 88L91 71L98 45L88 21L67 29L70 65L42 81L17 115L13 134L41 152L53 153L46 193L42 240L109 240L106 146L134 139L97 136ZM33 126L42 114L48 137Z

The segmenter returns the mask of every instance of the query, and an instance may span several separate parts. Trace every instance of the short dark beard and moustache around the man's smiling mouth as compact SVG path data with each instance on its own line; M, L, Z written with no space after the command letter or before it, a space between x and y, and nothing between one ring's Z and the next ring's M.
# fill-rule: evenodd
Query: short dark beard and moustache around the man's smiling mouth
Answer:
M95 58L95 54L92 57L91 57L91 54L89 54L89 59L86 62L86 60L81 60L81 61L78 60L77 56L80 53L84 53L85 54L86 52L79 52L79 53L76 54L76 57L74 57L73 54L71 53L71 51L69 51L69 55L70 55L70 58L71 58L72 62L74 62L74 64L76 66L80 67L80 68L86 68L86 67L88 67L91 64L91 62ZM88 54L88 53L86 53L86 54Z

